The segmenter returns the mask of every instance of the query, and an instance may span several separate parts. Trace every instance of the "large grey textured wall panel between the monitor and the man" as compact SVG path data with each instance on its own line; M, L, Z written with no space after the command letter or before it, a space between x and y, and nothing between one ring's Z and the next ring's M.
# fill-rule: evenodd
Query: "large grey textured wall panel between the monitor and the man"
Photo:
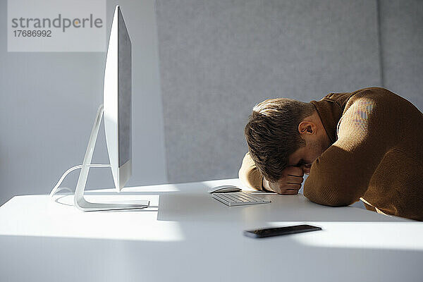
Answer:
M376 1L157 1L169 182L231 178L269 97L380 85Z

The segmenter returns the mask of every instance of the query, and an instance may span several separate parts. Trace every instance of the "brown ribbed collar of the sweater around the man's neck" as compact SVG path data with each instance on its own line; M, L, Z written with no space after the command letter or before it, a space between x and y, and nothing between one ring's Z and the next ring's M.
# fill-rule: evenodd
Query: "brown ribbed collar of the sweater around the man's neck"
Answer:
M338 103L326 98L310 103L316 108L329 139L334 143L338 139L336 127L343 114L343 109Z

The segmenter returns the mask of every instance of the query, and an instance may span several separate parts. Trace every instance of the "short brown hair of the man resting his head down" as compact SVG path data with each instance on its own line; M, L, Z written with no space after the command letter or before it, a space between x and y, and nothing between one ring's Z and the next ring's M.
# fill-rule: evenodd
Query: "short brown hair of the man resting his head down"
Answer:
M250 156L267 180L278 181L290 154L305 146L298 125L314 111L311 103L287 98L268 99L252 109L245 139Z

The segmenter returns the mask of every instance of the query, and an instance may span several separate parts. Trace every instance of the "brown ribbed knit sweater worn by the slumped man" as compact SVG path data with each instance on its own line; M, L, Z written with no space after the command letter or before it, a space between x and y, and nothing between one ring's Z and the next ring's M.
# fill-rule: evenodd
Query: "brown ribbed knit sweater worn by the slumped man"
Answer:
M312 164L304 195L312 202L367 209L423 221L423 114L384 88L331 93L317 109L331 147ZM240 179L262 190L249 154Z

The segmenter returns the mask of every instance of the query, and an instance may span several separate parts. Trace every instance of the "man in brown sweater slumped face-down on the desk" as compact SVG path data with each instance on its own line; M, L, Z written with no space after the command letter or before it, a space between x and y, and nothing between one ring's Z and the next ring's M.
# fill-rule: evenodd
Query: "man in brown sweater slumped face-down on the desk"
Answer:
M384 88L331 93L319 102L269 99L245 126L240 179L295 195L304 173L312 202L423 221L423 114Z

